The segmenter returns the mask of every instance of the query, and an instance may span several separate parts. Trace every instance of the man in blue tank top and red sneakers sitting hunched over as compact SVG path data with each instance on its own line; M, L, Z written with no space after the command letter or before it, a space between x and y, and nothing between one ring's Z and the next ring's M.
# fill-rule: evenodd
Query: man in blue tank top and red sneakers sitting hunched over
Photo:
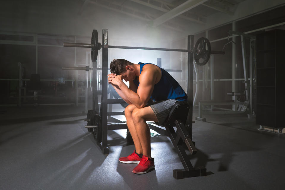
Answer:
M151 157L151 136L146 121L163 125L171 107L177 101L186 101L187 95L168 72L154 64L133 64L125 59L114 59L110 69L108 82L129 104L125 108L125 116L136 148L134 153L119 161L138 163L133 173L147 173L154 168L154 159ZM123 79L129 81L129 87ZM154 103L147 105L149 100Z

